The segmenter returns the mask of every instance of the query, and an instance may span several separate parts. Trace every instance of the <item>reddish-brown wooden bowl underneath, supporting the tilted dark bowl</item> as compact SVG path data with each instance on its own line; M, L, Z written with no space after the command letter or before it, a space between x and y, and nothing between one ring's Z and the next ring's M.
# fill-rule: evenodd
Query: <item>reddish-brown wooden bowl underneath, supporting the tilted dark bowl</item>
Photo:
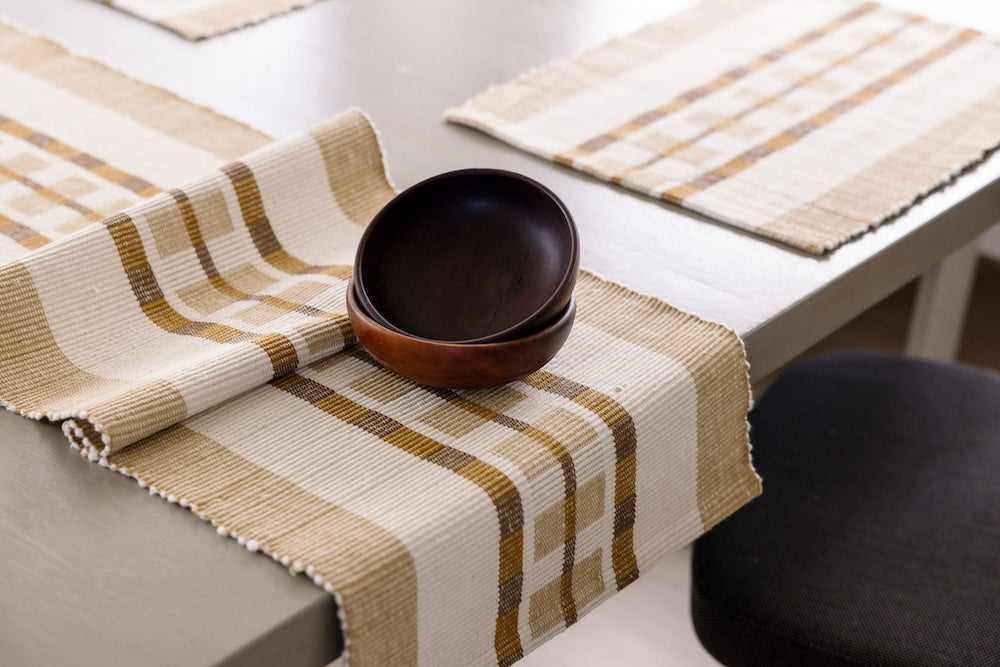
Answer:
M512 340L451 343L417 338L382 326L347 287L347 314L354 333L379 363L418 384L449 389L483 389L533 373L566 342L576 315L576 300L547 326Z

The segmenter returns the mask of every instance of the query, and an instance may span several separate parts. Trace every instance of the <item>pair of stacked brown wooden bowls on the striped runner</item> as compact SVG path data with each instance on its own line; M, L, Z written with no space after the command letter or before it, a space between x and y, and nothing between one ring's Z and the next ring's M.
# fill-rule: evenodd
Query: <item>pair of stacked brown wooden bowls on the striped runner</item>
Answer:
M361 238L347 312L361 344L415 382L483 388L541 368L569 336L580 261L548 188L464 169L405 190Z

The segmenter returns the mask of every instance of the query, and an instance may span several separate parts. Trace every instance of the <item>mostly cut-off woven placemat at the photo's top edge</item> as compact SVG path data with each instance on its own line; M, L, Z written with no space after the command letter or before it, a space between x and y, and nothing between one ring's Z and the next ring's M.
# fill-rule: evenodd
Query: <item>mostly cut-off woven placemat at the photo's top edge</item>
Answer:
M260 23L316 0L97 0L172 30L190 40L205 39Z

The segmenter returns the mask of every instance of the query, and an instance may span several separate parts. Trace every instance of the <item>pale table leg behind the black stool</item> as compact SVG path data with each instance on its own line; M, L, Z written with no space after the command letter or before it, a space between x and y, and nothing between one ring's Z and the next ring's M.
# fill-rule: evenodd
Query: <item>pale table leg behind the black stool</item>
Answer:
M973 241L920 277L906 335L907 354L941 361L955 359L977 258L977 243Z

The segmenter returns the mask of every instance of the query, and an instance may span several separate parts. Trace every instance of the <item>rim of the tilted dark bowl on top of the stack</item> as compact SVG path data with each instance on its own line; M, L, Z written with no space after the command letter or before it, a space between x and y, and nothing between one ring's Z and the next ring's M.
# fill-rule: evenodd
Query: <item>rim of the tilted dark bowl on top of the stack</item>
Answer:
M448 178L455 178L458 176L478 176L478 175L502 176L505 178L511 178L517 181L521 181L539 190L542 194L547 196L549 200L551 200L559 209L559 211L562 213L562 220L565 221L565 227L569 232L569 239L570 239L569 261L567 262L567 266L565 267L565 270L562 273L562 277L559 280L559 284L556 286L555 289L552 290L548 298L542 304L540 304L538 308L536 308L529 316L525 317L520 322L510 327L507 327L506 329L503 329L502 331L489 334L488 336L479 336L476 338L465 338L456 340L424 338L421 336L415 336L411 332L407 331L406 329L403 329L402 327L392 322L389 318L385 317L385 315L383 315L382 312L379 311L378 307L374 303L372 303L371 299L368 296L367 291L363 288L363 282L364 282L362 278L364 270L363 255L364 255L364 250L368 243L368 239L371 236L372 230L375 228L378 222L385 217L386 212L389 211L394 206L394 204L396 204L396 202L401 200L406 195L412 193L414 190L428 187L429 185L437 181L445 180ZM361 238L358 241L358 246L354 254L354 272L351 280L355 285L354 289L356 291L357 300L359 301L360 305L363 306L365 314L370 319L382 325L384 328L387 328L391 331L395 331L396 333L400 333L411 338L416 338L424 341L433 341L435 343L452 343L455 345L475 345L480 343L495 343L504 340L520 340L520 338L512 336L512 334L516 332L517 329L524 322L531 322L535 320L536 318L539 317L540 313L543 313L549 308L551 308L552 305L557 301L557 297L567 288L567 285L575 284L577 275L579 273L579 268L580 268L579 230L577 229L576 221L573 219L573 216L569 212L569 209L566 207L566 204L563 203L562 199L560 199L559 196L556 195L556 193L554 193L547 186L531 178L530 176L525 176L524 174L520 174L515 171L509 171L507 169L496 169L493 167L469 167L465 169L455 169L452 171L446 171L431 176L429 178L425 178L424 180L414 183L410 187L402 190L401 192L396 194L392 199L386 202L385 205L383 205L382 208L379 209L378 213L376 213L374 217L372 217L368 225L365 227L364 232L361 234ZM573 299L573 294L571 290L570 297L566 301L567 305L572 299ZM555 319L561 319L561 316L564 314L565 310L566 310L565 308L560 309L559 312L553 317ZM547 321L537 322L536 324L538 326L541 326L542 328L545 328L547 325Z

